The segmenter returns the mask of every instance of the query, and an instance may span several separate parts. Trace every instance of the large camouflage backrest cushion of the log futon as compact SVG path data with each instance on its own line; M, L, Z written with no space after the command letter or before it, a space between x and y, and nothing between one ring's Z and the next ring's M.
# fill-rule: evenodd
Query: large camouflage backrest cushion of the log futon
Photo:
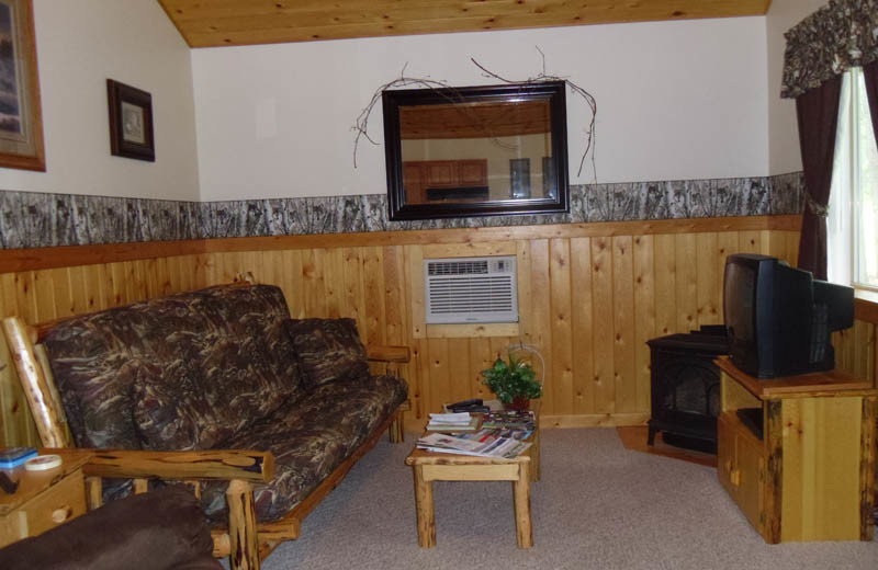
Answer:
M221 286L58 324L44 342L77 445L214 446L301 397L289 316L278 287Z

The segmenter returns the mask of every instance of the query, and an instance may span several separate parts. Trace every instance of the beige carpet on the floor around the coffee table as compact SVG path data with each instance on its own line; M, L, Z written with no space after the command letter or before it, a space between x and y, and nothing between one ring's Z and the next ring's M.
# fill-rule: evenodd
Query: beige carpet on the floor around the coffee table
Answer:
M765 545L714 469L628 451L611 429L543 432L533 548L516 548L510 483L438 482L437 546L421 549L406 436L381 442L262 568L878 568L878 542Z

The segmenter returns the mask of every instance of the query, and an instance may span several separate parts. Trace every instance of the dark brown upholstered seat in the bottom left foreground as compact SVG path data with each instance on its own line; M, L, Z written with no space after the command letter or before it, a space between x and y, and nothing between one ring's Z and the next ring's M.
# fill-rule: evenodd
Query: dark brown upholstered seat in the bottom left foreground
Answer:
M222 569L193 494L179 486L132 495L0 549L0 568Z

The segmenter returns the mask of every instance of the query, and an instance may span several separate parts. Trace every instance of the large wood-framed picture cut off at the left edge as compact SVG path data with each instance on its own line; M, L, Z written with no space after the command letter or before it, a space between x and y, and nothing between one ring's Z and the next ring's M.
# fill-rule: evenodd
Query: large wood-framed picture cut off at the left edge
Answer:
M0 167L46 170L32 0L0 0Z

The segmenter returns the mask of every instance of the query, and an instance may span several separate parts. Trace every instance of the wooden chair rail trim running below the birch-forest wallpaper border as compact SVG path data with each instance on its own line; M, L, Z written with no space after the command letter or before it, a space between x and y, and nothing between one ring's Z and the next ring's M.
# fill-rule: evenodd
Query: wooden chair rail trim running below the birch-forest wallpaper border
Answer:
M99 246L9 249L0 253L0 273L47 270L97 263L116 263L201 253L272 251L300 249L361 248L385 246L438 246L552 238L643 236L654 233L700 233L709 231L799 231L801 216L738 216L635 221L596 221L504 226L496 228L454 228L413 231L368 231L357 233L313 233L257 238L142 241Z

